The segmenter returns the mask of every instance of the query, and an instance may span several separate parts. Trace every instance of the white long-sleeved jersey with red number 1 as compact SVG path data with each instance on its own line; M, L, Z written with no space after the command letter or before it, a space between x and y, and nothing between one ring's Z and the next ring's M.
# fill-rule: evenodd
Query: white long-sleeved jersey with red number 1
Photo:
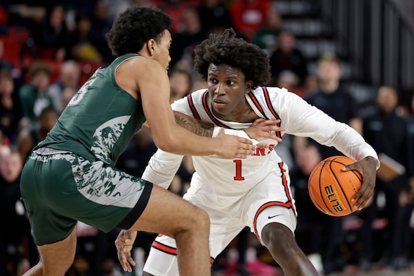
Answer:
M250 123L223 121L213 114L210 106L208 90L197 90L183 99L172 103L172 110L177 110L201 121L208 121L222 128L244 129ZM309 105L301 97L284 88L258 87L246 94L248 104L258 117L264 119L280 119L279 126L290 135L311 137L320 144L335 146L345 155L355 160L366 156L377 158L371 146L353 128L339 123L321 110ZM282 137L284 132L276 132ZM246 159L221 159L217 155L194 156L193 163L197 179L193 185L210 185L215 192L223 197L232 197L245 193L272 171L280 172L279 163L282 159L273 148L277 141L258 139L270 144L268 149L257 148L255 155ZM143 179L168 187L179 167L181 156L158 152L152 157Z

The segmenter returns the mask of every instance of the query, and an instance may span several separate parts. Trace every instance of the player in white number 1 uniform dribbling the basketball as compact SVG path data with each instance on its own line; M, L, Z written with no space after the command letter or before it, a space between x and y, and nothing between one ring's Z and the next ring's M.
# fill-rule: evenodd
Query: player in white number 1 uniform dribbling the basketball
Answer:
M375 150L353 128L333 120L286 89L259 86L269 81L269 69L266 54L235 38L231 29L222 35L210 34L195 48L195 70L206 79L208 89L175 101L172 109L214 124L213 136L224 128L229 134L249 135L268 144L268 148L257 148L255 155L247 159L194 156L196 172L184 199L210 216L211 262L240 230L249 226L285 275L317 275L295 242L297 213L288 168L273 148L288 133L312 137L357 160L344 168L358 170L364 177L362 188L355 195L357 208L364 207L372 197L375 170L380 163ZM276 131L264 135L263 130ZM273 139L269 139L271 135ZM158 150L143 179L168 188L181 159L181 155ZM157 237L144 275L179 275L176 248L174 239L166 235Z

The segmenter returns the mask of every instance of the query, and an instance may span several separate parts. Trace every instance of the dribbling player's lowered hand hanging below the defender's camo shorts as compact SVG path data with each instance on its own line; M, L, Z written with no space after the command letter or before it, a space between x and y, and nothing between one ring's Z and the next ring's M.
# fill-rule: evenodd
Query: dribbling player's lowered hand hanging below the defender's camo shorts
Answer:
M124 271L130 273L132 272L132 266L135 266L135 261L131 256L131 250L136 237L137 231L121 230L115 240L119 262L122 268L124 268Z

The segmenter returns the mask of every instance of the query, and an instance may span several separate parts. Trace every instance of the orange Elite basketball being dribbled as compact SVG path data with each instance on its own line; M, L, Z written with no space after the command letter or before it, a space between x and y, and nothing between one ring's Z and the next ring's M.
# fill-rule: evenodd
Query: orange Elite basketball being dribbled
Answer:
M362 184L362 176L357 170L341 170L353 163L353 159L344 156L328 157L311 172L309 196L313 204L326 215L342 217L357 210L351 199Z

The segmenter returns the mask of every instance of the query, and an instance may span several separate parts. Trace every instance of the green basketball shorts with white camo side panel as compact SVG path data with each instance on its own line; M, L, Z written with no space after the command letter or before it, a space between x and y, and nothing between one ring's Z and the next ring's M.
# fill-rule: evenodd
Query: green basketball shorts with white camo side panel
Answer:
M21 174L21 199L37 245L59 242L77 221L108 232L130 228L146 208L152 184L73 152L39 148Z

